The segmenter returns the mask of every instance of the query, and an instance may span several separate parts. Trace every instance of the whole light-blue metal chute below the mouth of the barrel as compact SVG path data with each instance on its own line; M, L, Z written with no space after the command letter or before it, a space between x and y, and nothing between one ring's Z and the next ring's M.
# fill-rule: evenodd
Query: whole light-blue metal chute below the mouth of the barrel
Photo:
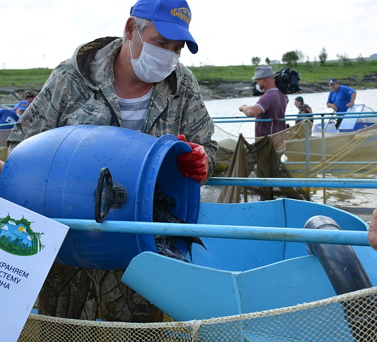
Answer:
M248 222L254 226L250 227L255 230L253 237L258 235L258 239L202 237L207 250L193 246L193 263L141 253L131 261L122 281L176 320L252 313L329 298L336 294L335 290L319 260L308 255L298 232L311 231L302 228L319 213L341 222L345 231L332 231L339 237L360 234L357 244L365 246L354 246L354 250L376 285L377 253L367 246L365 222L326 205L289 199L236 205L202 203L199 224L221 222L225 229L227 224L237 222L242 232L242 224ZM257 226L262 222L265 232ZM297 235L293 234L296 240L293 235L289 238L289 230L297 231ZM331 240L330 231L317 233ZM271 241L263 241L263 235Z

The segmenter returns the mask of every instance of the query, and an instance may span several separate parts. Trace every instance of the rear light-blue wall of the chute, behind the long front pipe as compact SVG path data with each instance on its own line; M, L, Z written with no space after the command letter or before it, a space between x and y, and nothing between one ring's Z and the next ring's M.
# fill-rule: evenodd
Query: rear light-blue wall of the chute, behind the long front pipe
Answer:
M289 198L234 205L202 203L198 223L304 228L305 222L313 215L336 218L344 230L366 231L365 222L355 215L319 203ZM298 242L202 240L208 250L194 245L194 263L228 271L245 271L307 254L305 244Z

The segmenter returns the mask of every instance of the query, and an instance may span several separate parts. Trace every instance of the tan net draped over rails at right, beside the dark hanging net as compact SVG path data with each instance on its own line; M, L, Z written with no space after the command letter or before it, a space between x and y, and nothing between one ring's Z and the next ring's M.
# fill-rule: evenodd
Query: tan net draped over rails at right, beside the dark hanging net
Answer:
M348 133L330 133L304 120L287 130L289 172L295 178L368 178L377 174L377 124Z

